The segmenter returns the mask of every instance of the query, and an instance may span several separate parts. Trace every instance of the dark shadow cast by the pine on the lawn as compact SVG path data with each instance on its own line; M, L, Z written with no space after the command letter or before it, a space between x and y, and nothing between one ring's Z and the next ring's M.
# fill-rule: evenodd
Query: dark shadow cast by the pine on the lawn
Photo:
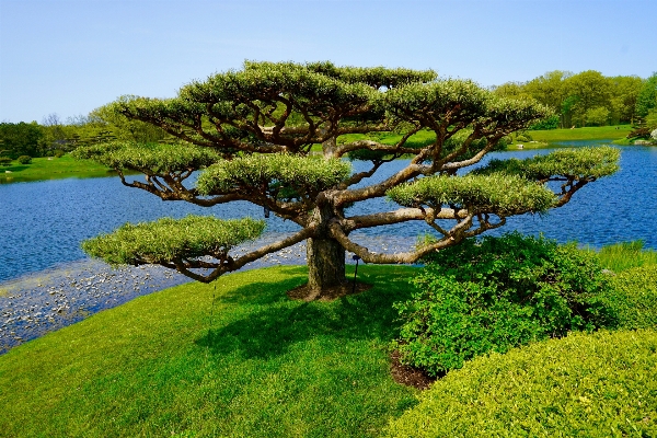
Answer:
M255 300L255 303L266 307L254 306L252 311L246 310L244 318L224 325L217 324L196 343L214 355L239 351L244 359L250 359L279 356L295 344L315 337L330 336L345 341L379 338L388 342L395 335L397 326L397 313L392 304L408 299L412 292L408 276L371 275L366 283L374 287L333 302L287 299L285 291L290 286L299 286L298 278L238 288L220 299L233 299L244 307ZM262 295L252 295L258 289L268 290L266 295L269 301Z

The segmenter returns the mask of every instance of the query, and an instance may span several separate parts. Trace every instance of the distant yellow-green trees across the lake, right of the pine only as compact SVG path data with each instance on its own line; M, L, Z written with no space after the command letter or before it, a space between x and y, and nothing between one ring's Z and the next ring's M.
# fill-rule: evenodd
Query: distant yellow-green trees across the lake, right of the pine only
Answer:
M595 70L577 74L554 70L528 82L507 82L494 92L532 97L550 106L554 116L534 129L619 124L657 127L657 73L642 79L604 77Z

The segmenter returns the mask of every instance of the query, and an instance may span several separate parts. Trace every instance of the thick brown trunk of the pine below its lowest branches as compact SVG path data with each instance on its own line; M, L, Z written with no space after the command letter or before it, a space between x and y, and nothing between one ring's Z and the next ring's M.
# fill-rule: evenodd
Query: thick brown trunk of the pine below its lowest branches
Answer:
M341 286L345 279L345 249L334 239L308 239L308 287L322 291Z

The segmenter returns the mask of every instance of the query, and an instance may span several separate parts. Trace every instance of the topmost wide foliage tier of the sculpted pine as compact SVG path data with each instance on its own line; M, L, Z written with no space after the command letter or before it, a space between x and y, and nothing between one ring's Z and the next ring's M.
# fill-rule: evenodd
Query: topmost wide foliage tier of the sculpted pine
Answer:
M185 85L176 99L123 99L113 108L227 152L298 152L342 134L390 130L396 122L443 131L457 124L451 134L473 122L514 128L514 118L525 126L522 117L540 119L546 112L535 102L498 102L471 81L437 80L431 71L328 62L246 62L241 71ZM446 118L447 108L453 114ZM442 132L441 140L449 134Z

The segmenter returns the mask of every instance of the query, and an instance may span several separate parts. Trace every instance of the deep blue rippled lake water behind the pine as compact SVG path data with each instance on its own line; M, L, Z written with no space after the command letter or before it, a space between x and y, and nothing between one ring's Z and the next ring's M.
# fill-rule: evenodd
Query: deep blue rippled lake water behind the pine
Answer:
M593 142L570 142L579 147ZM599 143L599 142L595 142ZM623 147L621 171L589 184L566 206L544 217L510 218L498 233L519 230L580 244L602 246L642 239L645 247L657 249L657 148ZM489 157L528 158L544 150L497 152ZM400 160L387 164L377 180L404 166ZM356 163L355 170L362 169ZM383 172L384 171L384 172ZM350 215L394 209L383 199L370 200ZM163 216L210 214L221 218L246 215L262 217L260 207L233 203L212 208L186 203L162 201L146 192L128 188L117 177L54 180L0 184L0 281L84 258L80 242L110 232L125 222L153 220ZM267 219L270 232L291 232L297 226ZM413 240L430 229L424 222L406 222L366 232L374 237L407 237Z

